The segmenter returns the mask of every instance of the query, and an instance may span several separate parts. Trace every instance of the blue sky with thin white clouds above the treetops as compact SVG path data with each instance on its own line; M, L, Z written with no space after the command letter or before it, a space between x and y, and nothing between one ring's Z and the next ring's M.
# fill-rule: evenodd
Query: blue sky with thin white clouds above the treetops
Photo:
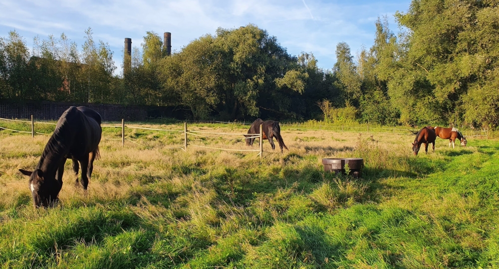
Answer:
M172 49L214 34L218 27L256 24L276 36L293 55L312 52L318 65L330 69L338 42L352 54L373 44L378 16L387 15L398 32L393 14L405 12L410 0L1 0L0 36L16 30L29 47L33 37L46 39L64 32L81 48L84 30L109 43L120 70L124 38L140 47L146 31L172 33Z

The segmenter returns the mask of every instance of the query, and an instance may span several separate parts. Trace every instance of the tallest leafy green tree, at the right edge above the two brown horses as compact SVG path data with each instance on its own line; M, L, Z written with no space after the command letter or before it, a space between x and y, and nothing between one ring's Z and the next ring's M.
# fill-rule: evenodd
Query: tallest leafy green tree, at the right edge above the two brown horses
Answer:
M413 0L396 14L409 29L398 83L418 77L409 93L422 93L443 121L497 126L498 14L494 0Z

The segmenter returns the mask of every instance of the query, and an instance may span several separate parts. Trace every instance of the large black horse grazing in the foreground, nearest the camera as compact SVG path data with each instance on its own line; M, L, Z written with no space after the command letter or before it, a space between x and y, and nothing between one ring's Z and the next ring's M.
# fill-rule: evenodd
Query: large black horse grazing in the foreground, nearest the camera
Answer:
M78 161L81 165L81 185L87 189L92 175L93 161L99 157L102 135L100 115L86 107L70 107L57 121L34 171L19 171L29 176L29 190L35 207L55 205L62 188L62 174L66 159L73 160L78 184Z

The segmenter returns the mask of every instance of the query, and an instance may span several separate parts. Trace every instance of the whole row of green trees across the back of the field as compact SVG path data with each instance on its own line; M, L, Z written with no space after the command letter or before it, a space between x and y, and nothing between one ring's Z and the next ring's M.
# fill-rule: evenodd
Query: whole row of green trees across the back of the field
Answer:
M146 32L127 72L91 29L81 49L62 34L0 38L0 98L174 106L194 119L256 117L381 125L499 125L499 1L413 0L375 22L374 44L336 45L331 69L290 55L253 24L219 28L166 55ZM129 57L129 56L125 56Z

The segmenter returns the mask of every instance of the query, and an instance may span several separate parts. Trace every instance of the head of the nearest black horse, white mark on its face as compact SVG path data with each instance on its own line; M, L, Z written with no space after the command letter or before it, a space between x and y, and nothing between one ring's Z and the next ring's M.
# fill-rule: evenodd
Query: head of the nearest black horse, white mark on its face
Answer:
M61 186L55 178L47 178L40 169L36 169L33 172L19 169L19 172L29 176L28 187L31 191L35 207L43 206L47 208L57 204L59 201L57 195Z

